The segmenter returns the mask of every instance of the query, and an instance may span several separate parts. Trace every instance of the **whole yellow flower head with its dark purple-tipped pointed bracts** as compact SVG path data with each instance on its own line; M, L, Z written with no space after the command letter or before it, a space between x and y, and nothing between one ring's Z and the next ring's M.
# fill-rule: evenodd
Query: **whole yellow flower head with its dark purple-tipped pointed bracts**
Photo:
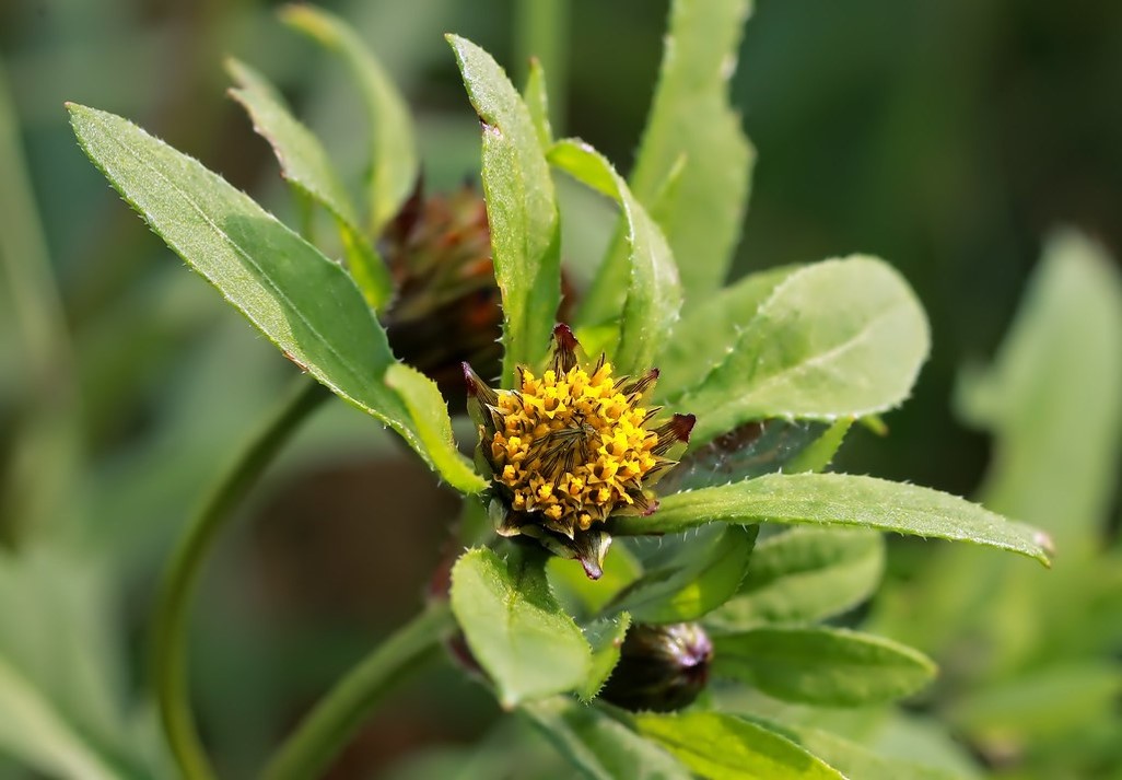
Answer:
M588 365L578 348L569 327L558 325L549 367L537 376L519 366L511 391L491 389L468 364L463 373L498 533L532 536L597 579L611 543L605 522L655 511L650 488L677 465L696 419L655 422L662 410L644 400L657 369L615 376L604 355Z

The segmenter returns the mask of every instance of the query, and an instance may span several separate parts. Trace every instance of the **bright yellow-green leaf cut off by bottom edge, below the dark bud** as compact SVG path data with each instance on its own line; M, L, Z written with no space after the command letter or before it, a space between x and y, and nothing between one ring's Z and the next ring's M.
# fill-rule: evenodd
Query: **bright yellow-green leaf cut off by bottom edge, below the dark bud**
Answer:
M635 716L640 734L659 742L691 770L720 780L845 780L804 749L733 715Z

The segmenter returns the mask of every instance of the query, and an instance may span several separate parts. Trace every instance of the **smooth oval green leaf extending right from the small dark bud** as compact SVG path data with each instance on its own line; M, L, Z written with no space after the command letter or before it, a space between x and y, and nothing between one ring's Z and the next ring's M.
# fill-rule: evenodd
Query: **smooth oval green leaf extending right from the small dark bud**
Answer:
M844 628L754 628L714 637L712 673L776 699L856 707L910 696L935 677L918 650Z

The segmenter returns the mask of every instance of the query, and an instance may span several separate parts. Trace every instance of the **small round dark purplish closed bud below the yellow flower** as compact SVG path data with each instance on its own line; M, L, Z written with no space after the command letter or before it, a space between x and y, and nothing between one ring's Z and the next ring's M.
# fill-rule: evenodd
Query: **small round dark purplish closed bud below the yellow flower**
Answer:
M705 688L711 661L712 642L697 623L638 623L627 632L600 698L632 712L682 709Z

